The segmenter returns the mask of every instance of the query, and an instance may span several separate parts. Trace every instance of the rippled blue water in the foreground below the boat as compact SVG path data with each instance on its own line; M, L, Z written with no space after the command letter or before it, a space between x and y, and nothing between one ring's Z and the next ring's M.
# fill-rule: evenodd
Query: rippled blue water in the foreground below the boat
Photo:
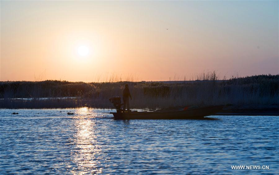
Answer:
M70 111L75 115L67 115ZM109 111L0 110L0 174L279 171L278 116L123 121L102 112ZM231 165L269 165L269 170Z

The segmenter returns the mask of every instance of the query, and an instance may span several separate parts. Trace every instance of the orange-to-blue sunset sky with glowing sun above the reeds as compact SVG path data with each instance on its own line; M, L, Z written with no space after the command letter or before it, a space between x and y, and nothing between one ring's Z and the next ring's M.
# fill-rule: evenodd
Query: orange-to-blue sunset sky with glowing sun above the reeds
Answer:
M1 1L0 8L0 81L279 72L278 1Z

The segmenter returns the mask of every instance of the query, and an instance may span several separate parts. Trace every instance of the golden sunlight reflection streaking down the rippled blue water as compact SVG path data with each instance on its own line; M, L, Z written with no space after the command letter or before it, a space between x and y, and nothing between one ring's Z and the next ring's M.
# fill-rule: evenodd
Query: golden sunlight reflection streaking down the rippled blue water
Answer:
M73 140L74 147L71 150L72 163L68 167L73 174L102 173L101 157L98 156L101 148L96 140L95 120L88 118L91 112L87 107L75 111L76 134Z

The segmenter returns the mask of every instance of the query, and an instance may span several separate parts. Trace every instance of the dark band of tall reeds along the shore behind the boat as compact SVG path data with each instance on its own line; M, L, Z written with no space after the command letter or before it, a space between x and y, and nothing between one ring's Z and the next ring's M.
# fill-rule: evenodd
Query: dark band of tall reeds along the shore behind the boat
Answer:
M279 75L218 80L215 72L195 81L69 82L1 81L0 108L113 108L108 98L122 97L128 84L133 108L163 109L224 104L224 113L279 113ZM222 113L222 112L221 112Z

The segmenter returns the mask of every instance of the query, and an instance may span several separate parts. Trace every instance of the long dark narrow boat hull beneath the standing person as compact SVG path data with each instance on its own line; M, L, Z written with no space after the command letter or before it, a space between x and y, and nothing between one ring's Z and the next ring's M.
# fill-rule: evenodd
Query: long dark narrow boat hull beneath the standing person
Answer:
M151 112L110 112L115 120L131 120L131 119L200 119L205 116L213 115L223 109L224 105L214 105L207 107L199 107L180 111L151 111Z

